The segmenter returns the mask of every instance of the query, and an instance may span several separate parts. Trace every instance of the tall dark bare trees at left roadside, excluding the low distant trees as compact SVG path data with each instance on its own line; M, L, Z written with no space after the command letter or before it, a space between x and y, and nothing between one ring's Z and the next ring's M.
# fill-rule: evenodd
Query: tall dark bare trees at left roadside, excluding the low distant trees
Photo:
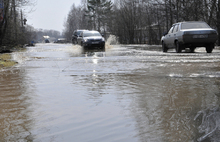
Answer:
M22 45L33 38L33 28L26 25L22 9L34 3L34 0L0 0L0 51L3 46Z

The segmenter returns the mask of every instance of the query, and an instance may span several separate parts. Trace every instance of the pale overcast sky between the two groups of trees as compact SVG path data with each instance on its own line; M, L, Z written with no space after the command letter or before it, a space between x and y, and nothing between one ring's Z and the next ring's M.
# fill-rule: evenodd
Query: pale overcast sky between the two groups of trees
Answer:
M37 0L35 11L27 14L27 24L36 29L57 30L62 32L64 19L73 4L80 5L81 0Z

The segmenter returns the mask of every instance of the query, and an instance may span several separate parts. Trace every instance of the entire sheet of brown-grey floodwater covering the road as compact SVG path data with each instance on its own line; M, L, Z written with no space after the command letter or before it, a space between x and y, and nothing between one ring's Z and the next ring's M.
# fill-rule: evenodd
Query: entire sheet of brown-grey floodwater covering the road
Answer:
M37 44L0 71L0 141L220 139L220 50Z

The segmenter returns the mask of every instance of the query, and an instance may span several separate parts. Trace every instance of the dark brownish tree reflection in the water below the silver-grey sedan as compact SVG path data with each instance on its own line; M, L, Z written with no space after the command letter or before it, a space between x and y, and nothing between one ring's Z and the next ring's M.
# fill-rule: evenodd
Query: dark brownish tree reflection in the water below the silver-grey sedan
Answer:
M219 98L215 95L220 92L216 85L219 79L186 78L185 75L158 77L151 73L118 77L124 83L117 82L118 90L123 90L132 100L130 111L137 122L137 136L142 141L201 141L209 136L215 137L214 141L218 139L218 112L212 111L205 116L209 117L205 123L208 126L205 131L200 131L201 134L198 131L201 119L195 121L194 117L201 109L219 106L216 101ZM211 135L213 131L215 136Z

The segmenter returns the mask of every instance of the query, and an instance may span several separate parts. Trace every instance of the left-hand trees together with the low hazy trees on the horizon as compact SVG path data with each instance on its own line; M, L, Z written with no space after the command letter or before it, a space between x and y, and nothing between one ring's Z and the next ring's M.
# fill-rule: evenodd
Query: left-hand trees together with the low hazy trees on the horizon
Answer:
M43 42L44 36L54 40L62 37L59 31L35 29L27 24L23 9L31 9L35 4L36 0L0 0L0 52L32 41Z

